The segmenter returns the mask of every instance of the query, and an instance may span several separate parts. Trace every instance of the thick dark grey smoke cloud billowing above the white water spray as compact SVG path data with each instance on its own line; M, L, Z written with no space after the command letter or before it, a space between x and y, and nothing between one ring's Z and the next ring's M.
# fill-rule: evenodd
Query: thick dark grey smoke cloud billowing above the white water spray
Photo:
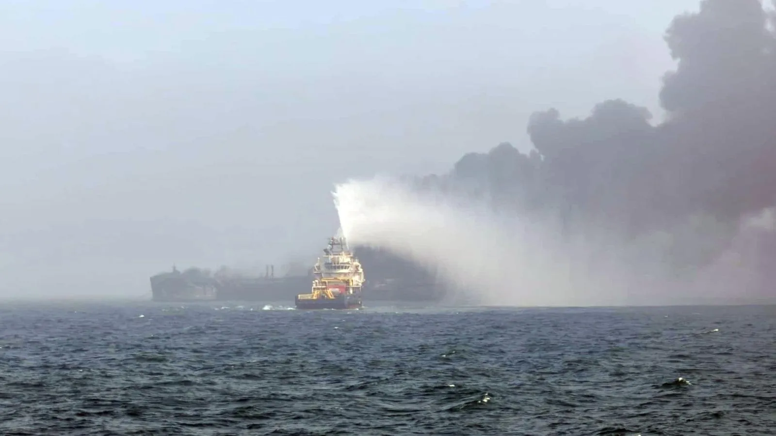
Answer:
M774 26L757 0L705 0L665 33L677 68L663 77L663 123L619 99L584 119L535 112L528 122L535 151L500 144L421 182L465 186L497 209L552 213L568 232L672 234L668 261L677 271L724 271L716 279L738 278L740 292L774 296Z

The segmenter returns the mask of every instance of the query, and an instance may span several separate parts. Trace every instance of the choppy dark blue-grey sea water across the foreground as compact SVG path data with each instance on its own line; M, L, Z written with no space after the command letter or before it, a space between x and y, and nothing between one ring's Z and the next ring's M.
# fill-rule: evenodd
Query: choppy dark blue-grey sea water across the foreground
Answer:
M227 306L6 303L0 434L774 434L774 306Z

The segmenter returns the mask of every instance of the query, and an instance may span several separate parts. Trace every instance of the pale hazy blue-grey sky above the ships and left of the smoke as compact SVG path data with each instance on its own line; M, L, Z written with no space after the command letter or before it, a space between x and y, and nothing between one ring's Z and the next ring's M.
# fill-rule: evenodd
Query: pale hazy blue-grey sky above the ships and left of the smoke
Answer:
M592 6L595 5L595 6ZM334 182L441 172L531 112L660 119L697 0L0 3L0 296L312 261Z

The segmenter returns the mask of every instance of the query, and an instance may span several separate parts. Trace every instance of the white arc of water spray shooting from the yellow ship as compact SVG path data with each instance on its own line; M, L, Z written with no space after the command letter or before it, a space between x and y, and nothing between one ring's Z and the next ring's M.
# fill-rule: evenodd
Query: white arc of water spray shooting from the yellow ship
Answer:
M334 202L341 230L352 245L383 247L410 257L480 303L625 303L624 292L612 292L618 278L611 268L599 275L604 280L592 280L590 272L597 267L579 261L590 253L578 246L562 247L549 226L516 222L483 204L441 193L419 193L389 178L338 185Z

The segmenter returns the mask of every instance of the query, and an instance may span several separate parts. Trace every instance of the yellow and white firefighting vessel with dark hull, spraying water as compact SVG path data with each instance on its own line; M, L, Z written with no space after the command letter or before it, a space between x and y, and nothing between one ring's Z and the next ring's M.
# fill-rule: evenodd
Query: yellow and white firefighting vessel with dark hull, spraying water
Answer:
M332 237L313 267L309 294L296 296L297 309L360 309L364 270L344 237Z

